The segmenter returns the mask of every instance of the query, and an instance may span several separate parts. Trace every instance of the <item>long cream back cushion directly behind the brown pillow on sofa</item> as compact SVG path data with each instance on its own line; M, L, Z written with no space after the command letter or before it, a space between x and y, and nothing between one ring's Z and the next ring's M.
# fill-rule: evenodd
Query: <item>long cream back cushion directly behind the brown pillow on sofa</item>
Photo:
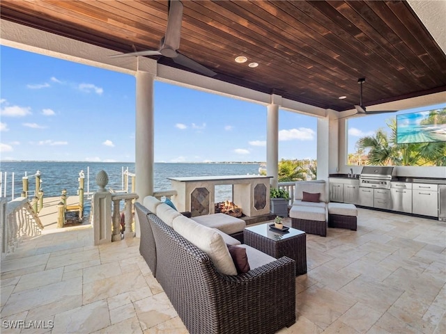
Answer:
M174 219L174 230L206 253L218 271L226 275L237 275L228 246L220 233L185 216Z

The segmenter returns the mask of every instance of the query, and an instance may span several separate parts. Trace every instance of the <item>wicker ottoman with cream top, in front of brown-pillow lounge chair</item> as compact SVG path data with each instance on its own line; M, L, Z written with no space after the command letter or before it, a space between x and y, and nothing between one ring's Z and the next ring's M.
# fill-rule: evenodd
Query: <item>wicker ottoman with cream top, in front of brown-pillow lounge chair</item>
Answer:
M321 237L327 236L325 207L293 205L290 217L293 228L309 234L318 234Z

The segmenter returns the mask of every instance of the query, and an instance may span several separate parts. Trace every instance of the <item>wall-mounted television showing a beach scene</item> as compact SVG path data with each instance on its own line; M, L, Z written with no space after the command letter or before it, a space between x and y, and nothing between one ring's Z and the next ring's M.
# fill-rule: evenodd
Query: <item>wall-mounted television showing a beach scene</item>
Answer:
M446 108L397 115L397 143L446 141Z

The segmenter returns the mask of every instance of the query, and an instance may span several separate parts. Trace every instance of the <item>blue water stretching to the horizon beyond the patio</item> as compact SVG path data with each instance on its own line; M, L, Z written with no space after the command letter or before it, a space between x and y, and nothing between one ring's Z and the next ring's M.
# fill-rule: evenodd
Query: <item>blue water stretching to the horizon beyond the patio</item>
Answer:
M167 177L187 177L187 176L210 176L210 175L253 175L259 174L259 164L169 164L155 163L154 169L154 189L155 191L171 189L171 182ZM115 190L123 189L122 171L126 170L134 173L134 163L103 163L103 162L61 162L61 161L1 161L0 171L1 197L11 200L13 198L13 173L14 173L14 198L20 197L23 186L22 177L28 176L29 191L33 197L36 189L36 177L33 176L40 171L40 188L44 192L44 197L61 196L63 189L67 190L68 196L76 196L79 187L78 177L81 170L85 174L84 194L90 195L98 186L95 177L100 170L105 170L109 175L108 187ZM89 182L87 170L89 170ZM6 182L5 182L6 172ZM129 177L129 189L131 187ZM215 201L231 200L232 187L217 186L215 189Z

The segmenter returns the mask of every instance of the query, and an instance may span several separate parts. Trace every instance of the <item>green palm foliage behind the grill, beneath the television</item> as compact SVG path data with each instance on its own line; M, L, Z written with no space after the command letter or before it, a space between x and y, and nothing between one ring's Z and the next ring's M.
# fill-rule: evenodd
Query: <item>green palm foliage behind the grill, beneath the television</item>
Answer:
M357 141L357 149L367 152L368 165L446 166L446 143L397 144L397 122L387 122L390 134L378 129Z

